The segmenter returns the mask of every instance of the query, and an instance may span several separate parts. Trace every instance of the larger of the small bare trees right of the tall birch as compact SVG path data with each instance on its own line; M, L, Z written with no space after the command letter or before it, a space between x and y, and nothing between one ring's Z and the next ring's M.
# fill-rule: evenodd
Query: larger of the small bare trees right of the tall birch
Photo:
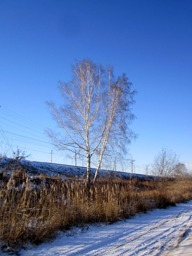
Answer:
M178 157L172 150L163 148L162 151L155 156L152 166L152 175L160 179L164 186L170 178L174 177L174 172L178 164Z

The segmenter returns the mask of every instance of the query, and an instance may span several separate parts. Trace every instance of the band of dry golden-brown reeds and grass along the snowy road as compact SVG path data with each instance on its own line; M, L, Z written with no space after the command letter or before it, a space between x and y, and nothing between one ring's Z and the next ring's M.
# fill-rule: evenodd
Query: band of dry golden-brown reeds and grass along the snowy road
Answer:
M160 188L154 181L103 178L88 188L77 177L30 178L15 171L0 182L0 242L11 247L39 244L70 226L114 222L191 198L191 181L171 181Z

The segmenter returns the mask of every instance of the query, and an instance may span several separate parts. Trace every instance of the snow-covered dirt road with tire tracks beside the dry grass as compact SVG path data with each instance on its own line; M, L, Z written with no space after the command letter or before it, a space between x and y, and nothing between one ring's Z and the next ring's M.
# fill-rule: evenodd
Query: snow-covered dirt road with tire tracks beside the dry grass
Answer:
M89 227L89 228L88 228ZM192 201L112 225L85 226L22 256L192 255ZM185 254L184 254L185 252Z

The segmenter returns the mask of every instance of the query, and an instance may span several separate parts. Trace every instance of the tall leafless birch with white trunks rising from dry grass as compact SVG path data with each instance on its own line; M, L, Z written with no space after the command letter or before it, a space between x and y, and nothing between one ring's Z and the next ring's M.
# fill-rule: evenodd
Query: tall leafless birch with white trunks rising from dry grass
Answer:
M125 74L116 79L113 68L103 68L91 60L77 61L72 73L70 82L59 82L63 105L57 109L54 103L47 102L64 134L47 132L58 148L86 157L90 183L91 159L98 159L95 181L104 153L126 152L126 143L136 137L129 129L136 91L131 91L132 84Z

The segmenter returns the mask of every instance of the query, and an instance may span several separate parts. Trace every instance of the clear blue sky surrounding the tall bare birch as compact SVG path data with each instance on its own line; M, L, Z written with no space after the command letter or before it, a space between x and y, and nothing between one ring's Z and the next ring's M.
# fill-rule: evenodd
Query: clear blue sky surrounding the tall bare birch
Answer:
M191 0L0 0L2 148L6 134L31 159L50 161L53 149L53 161L63 163L51 144L24 136L48 141L44 126L55 123L45 101L62 102L58 80L68 81L70 65L84 58L125 72L138 91L131 128L139 137L129 146L136 172L162 147L192 164Z

